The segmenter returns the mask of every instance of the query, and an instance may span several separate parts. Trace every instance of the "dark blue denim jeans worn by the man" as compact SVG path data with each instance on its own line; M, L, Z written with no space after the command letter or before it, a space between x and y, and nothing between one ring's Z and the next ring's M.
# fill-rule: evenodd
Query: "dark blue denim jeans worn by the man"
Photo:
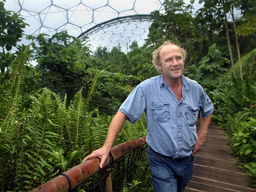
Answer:
M193 175L194 156L172 159L148 147L148 161L155 192L183 192Z

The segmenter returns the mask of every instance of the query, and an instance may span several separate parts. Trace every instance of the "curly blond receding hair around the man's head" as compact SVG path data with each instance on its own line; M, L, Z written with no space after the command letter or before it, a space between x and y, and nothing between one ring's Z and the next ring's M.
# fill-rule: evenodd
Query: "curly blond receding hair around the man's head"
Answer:
M177 47L179 47L179 49L182 53L182 57L183 57L184 62L185 62L186 57L187 57L187 52L186 52L185 49L183 49L182 47L180 47L176 43L173 43L171 40L164 41L164 43L160 47L155 49L154 52L152 53L152 56L153 56L152 63L156 67L156 70L159 71L160 73L162 73L162 70L159 68L159 66L162 65L161 62L160 62L160 51L161 51L162 47L164 47L165 45L176 45Z

